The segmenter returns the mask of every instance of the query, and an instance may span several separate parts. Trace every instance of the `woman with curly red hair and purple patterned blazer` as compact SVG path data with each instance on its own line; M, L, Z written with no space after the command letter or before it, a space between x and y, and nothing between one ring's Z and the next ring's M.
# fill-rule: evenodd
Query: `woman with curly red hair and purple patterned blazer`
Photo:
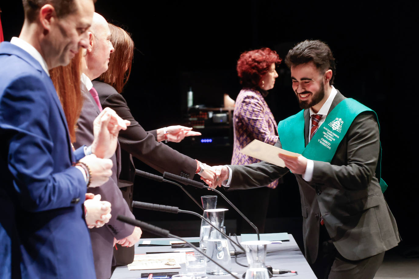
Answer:
M278 141L277 122L264 97L274 88L278 77L275 65L282 61L276 51L269 48L243 52L237 61L237 73L243 89L237 96L233 114L234 146L232 165L248 165L260 160L242 154L240 151L254 139L274 145ZM267 185L276 188L278 180ZM261 233L264 232L269 189L266 187L239 191L241 207L246 216ZM256 204L257 203L257 204ZM246 210L247 211L247 210ZM246 228L242 228L246 226ZM252 232L246 224L238 223L238 232Z

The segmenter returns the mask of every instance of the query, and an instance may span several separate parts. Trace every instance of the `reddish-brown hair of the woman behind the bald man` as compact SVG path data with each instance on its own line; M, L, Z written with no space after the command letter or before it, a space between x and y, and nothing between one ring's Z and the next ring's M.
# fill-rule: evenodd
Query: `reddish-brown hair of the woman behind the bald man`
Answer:
M99 80L122 92L131 74L132 57L134 56L134 41L124 29L108 23L111 30L111 42L114 52L109 59L109 67L101 74Z

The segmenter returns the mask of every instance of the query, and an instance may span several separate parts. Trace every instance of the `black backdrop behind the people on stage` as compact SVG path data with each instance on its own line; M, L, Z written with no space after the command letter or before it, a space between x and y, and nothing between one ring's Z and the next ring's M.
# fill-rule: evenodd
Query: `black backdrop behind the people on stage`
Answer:
M8 41L19 34L23 10L20 1L7 2L2 1L0 8ZM189 86L194 91L195 105L220 107L224 93L235 99L241 89L235 64L243 51L269 47L284 58L299 41L325 41L337 61L335 87L378 114L382 177L389 185L385 198L398 222L403 246L418 246L414 230L418 221L418 51L413 6L401 1L338 5L319 1L98 0L96 11L132 33L136 51L124 96L146 130L184 122ZM289 69L283 63L277 71L279 78L266 100L279 121L299 108L291 90ZM231 159L231 147L189 148L186 140L168 144L211 164L226 164ZM137 161L136 166L157 174L141 162ZM268 218L283 220L280 229L291 231L287 220L296 220L300 225L300 198L293 176L287 174L284 179L285 184L271 191ZM134 200L198 211L177 187L144 179L137 179L136 184ZM208 194L206 190L187 189L195 197ZM228 196L235 199L234 192ZM134 213L152 223L195 220L188 215ZM230 210L227 218L236 215Z

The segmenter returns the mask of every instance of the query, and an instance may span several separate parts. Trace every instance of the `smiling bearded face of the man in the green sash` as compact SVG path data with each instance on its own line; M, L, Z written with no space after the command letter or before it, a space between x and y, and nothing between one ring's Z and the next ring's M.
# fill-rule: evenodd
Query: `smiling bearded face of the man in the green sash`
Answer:
M291 66L292 90L297 96L300 108L307 109L318 104L323 105L327 99L324 86L325 82L328 82L326 76L329 74L331 70L323 74L313 62Z

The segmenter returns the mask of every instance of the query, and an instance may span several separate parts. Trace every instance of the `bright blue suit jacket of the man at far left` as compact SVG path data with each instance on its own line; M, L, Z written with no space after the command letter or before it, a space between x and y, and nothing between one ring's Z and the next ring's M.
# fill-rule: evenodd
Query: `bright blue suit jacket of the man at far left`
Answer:
M86 184L72 162L51 79L26 51L0 44L1 278L95 278Z

